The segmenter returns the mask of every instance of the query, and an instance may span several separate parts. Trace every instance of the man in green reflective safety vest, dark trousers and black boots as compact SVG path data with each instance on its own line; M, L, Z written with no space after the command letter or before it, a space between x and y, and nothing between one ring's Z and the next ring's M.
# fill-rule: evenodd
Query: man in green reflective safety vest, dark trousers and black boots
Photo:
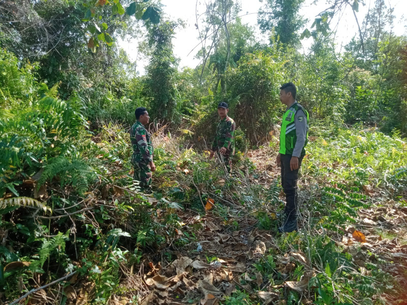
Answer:
M280 131L280 151L276 158L281 165L281 185L285 193L284 221L278 228L280 233L297 230L298 171L305 156L308 142L309 115L296 101L297 88L292 83L280 87L280 101L287 106Z

